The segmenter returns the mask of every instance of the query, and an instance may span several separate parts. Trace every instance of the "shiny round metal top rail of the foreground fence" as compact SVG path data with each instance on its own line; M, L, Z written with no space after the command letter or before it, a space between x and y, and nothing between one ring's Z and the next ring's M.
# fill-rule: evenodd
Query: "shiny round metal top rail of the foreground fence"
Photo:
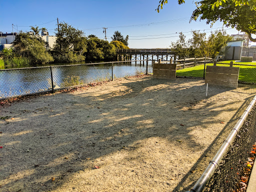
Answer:
M207 182L215 172L215 170L218 167L220 161L222 160L223 156L226 154L229 146L231 146L235 136L237 135L239 129L243 125L246 117L248 116L249 112L251 111L252 107L256 103L256 95L253 97L253 99L250 101L247 108L244 110L243 114L237 121L237 123L232 128L231 132L227 136L227 138L224 140L223 144L215 154L215 156L212 158L212 160L209 162L209 165L206 167L204 172L202 173L201 177L196 181L194 186L190 189L190 192L201 192L204 187L206 186Z

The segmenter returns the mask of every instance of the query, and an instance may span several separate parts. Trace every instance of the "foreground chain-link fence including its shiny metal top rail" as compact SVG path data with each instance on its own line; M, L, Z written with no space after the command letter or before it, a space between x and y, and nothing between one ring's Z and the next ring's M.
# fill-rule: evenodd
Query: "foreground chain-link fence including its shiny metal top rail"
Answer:
M247 168L249 153L256 141L256 96L252 99L191 192L241 191L240 176ZM242 190L244 191L244 189Z

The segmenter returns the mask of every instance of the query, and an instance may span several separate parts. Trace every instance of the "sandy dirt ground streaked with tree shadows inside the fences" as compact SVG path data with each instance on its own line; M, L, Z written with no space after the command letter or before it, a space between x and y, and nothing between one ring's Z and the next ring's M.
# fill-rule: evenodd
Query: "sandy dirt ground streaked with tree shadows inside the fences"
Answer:
M186 191L256 94L126 77L0 108L0 191Z

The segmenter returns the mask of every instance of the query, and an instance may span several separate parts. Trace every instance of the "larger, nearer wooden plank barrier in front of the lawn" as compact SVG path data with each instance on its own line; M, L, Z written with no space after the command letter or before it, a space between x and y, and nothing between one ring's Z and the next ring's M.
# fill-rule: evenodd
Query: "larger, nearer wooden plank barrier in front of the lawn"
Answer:
M221 85L228 87L237 87L239 67L233 67L232 61L230 66L207 66L205 84Z

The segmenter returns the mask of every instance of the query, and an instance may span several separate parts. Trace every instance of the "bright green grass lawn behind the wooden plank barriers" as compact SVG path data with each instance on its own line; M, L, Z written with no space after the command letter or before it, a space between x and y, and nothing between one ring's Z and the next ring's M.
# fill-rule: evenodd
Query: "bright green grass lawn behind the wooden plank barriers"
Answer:
M233 61L234 67L239 67L239 81L244 82L254 82L256 83L256 62L235 62L234 60L225 60L221 61L221 63L230 63ZM236 64L248 64L255 66L244 66L244 65L236 65ZM213 63L206 63L206 67L208 65L213 65ZM217 66L229 66L229 64L218 64ZM203 67L204 65L196 65L192 67L187 67L183 69L179 69L176 71L177 76L193 76L193 77L203 77Z

